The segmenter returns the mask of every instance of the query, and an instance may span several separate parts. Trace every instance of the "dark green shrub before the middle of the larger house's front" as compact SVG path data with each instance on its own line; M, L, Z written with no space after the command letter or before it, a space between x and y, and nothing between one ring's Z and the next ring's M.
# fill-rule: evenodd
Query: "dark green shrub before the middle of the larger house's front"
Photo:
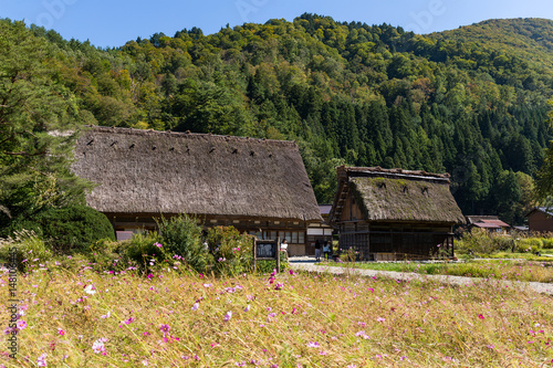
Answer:
M209 249L201 243L201 228L186 213L158 223L163 250L167 256L178 256L196 272L205 272L212 264Z

